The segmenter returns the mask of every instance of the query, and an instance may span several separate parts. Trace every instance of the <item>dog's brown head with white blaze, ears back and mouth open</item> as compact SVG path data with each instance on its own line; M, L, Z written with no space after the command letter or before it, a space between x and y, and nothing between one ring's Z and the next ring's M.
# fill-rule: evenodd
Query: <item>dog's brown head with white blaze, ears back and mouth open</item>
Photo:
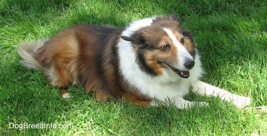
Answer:
M121 38L131 42L140 69L150 75L161 75L167 68L187 78L195 64L194 38L176 14L154 16L149 26Z

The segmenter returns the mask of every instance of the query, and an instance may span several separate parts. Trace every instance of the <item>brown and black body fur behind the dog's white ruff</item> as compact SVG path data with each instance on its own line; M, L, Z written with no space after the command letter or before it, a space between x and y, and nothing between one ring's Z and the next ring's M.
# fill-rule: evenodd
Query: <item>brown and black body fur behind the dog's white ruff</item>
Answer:
M73 26L45 41L32 55L52 86L64 88L80 82L87 92L96 94L98 101L109 100L110 96L124 97L147 106L150 99L131 91L118 73L116 45L122 30L97 25ZM63 95L67 90L60 92Z

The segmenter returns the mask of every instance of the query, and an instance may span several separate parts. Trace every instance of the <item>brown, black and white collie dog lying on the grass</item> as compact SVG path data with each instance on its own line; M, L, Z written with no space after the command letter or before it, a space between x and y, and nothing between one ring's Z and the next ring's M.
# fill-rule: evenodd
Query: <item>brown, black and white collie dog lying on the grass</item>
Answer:
M76 25L50 39L21 43L21 62L41 69L59 87L82 85L98 101L126 99L140 106L175 105L179 109L207 106L184 95L218 96L238 107L250 98L201 82L200 55L192 33L176 14L134 21L126 28Z

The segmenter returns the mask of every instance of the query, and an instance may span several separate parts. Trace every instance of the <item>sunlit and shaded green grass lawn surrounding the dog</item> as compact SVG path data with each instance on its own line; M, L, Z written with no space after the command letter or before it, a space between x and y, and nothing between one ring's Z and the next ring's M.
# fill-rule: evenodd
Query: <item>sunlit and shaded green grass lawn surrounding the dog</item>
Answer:
M64 100L41 71L19 63L20 41L51 37L74 24L124 27L152 15L177 13L194 33L212 85L267 106L267 3L264 0L0 0L1 136L260 136L267 113L240 110L216 97L190 94L209 107L139 107L97 103L71 87ZM67 129L10 129L14 124L72 124Z

